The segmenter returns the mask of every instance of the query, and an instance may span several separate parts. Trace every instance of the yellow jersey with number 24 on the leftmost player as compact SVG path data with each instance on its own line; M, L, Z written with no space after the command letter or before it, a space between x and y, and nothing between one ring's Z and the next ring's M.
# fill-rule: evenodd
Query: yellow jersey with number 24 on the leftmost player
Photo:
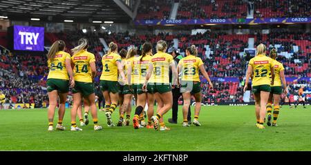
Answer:
M69 79L66 59L70 59L70 55L63 51L57 52L54 59L48 59L48 79Z

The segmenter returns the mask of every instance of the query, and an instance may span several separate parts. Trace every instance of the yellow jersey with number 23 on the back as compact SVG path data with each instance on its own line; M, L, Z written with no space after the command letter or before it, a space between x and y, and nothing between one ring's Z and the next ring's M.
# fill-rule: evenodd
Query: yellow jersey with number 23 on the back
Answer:
M180 59L178 65L182 66L182 81L199 81L199 67L203 65L200 57L189 55Z

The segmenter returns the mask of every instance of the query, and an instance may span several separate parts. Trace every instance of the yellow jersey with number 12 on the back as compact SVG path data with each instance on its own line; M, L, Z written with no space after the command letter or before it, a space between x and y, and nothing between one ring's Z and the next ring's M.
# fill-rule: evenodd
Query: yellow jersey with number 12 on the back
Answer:
M273 59L265 55L257 55L249 60L248 66L253 68L252 86L270 85L270 68L272 68Z

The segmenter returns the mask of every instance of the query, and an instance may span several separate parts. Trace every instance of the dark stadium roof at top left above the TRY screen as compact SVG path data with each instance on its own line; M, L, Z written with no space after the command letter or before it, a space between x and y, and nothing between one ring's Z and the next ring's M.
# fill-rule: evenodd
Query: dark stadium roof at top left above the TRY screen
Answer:
M130 9L131 10L131 9ZM65 19L80 23L131 20L113 0L4 0L0 1L0 15L11 20L64 22Z

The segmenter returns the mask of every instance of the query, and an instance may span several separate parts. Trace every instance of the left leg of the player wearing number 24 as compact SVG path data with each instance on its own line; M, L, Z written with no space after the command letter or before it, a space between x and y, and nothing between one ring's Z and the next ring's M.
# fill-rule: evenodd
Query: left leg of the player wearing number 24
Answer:
M53 130L53 121L55 115L55 108L57 106L57 90L48 92L48 130Z

